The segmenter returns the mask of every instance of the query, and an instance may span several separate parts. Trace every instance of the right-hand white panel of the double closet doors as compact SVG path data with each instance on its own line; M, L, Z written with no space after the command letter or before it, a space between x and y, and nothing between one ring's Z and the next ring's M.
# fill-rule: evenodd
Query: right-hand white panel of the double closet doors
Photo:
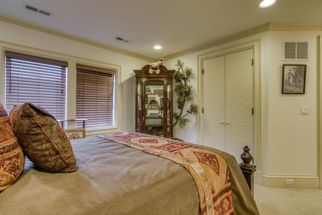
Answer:
M226 55L225 145L226 152L241 162L245 145L253 151L253 50Z

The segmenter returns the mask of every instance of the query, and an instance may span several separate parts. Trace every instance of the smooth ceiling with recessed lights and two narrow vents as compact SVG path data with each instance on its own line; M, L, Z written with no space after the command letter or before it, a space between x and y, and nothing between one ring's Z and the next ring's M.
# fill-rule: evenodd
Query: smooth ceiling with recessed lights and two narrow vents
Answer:
M322 23L321 0L277 0L269 8L259 8L260 2L0 0L0 13L153 59L267 23ZM27 10L24 3L53 15ZM154 50L154 45L163 48Z

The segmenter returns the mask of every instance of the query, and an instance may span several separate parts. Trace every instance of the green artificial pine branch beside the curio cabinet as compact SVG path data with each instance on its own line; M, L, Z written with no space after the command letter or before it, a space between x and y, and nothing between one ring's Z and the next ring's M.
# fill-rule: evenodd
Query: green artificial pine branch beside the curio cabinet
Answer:
M174 80L177 83L175 86L174 92L177 94L177 107L180 109L180 114L174 112L174 119L176 122L173 124L175 126L179 123L181 128L187 125L188 122L191 122L190 119L184 118L188 114L197 114L198 113L198 105L190 104L190 107L187 110L187 113L182 116L183 110L185 107L186 102L193 101L192 92L194 91L192 85L188 84L188 80L193 78L193 71L192 68L188 66L184 66L184 62L179 60L176 61L176 65L178 68L175 71Z

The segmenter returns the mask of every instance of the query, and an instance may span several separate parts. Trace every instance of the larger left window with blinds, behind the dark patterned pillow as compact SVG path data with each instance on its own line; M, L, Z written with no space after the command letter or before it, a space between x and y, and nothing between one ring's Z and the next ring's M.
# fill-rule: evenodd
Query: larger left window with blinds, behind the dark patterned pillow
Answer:
M6 99L14 105L31 102L56 119L66 116L67 62L6 51Z

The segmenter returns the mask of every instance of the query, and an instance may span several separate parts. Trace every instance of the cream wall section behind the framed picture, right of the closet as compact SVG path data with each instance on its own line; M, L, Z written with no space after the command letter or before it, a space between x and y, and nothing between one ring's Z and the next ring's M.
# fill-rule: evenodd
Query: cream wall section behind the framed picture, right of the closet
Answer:
M317 172L317 38L322 32L269 32L268 64L268 138L264 172L269 175L314 177ZM309 61L282 61L282 41L310 41ZM263 50L264 51L264 50ZM306 64L304 95L281 94L283 64ZM301 115L300 106L309 106Z

